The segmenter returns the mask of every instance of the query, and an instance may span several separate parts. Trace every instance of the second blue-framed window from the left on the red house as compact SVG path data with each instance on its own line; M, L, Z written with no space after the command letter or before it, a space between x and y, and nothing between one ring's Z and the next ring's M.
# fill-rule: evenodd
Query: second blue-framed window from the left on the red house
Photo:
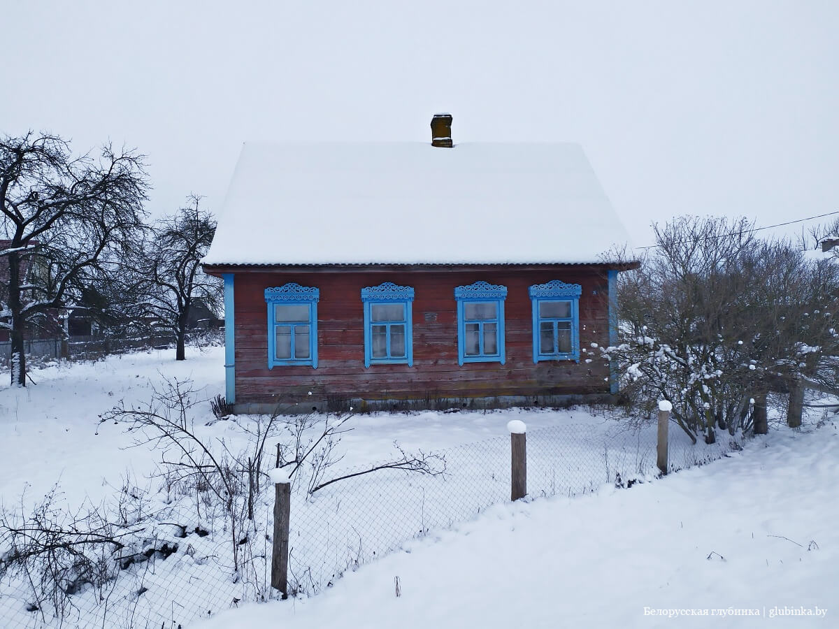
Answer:
M364 366L414 365L411 306L414 289L385 282L362 289Z

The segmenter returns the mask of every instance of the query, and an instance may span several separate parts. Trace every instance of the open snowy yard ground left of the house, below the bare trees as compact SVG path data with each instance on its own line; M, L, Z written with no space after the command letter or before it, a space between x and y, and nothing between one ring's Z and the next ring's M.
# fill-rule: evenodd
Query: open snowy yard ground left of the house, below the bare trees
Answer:
M148 448L122 450L133 437L124 427L99 426L100 413L120 399L148 402L161 372L192 377L205 397L223 390L223 348L188 349L177 362L174 350L152 350L105 361L61 363L31 372L34 384L9 387L0 373L0 500L7 507L37 500L60 481L70 504L112 492L121 477L149 471L159 454ZM209 413L209 406L207 406ZM211 417L211 416L210 416Z

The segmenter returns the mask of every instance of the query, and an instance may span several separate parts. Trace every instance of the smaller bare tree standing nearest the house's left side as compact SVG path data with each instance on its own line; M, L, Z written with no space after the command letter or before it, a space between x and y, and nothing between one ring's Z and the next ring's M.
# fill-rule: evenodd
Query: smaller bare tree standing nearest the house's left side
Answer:
M190 311L198 303L211 310L221 308L221 281L201 270L201 258L210 248L215 232L216 221L210 212L201 209L201 197L193 195L188 207L154 225L151 240L146 243L145 260L137 266L145 295L141 309L175 335L178 361L186 358Z

